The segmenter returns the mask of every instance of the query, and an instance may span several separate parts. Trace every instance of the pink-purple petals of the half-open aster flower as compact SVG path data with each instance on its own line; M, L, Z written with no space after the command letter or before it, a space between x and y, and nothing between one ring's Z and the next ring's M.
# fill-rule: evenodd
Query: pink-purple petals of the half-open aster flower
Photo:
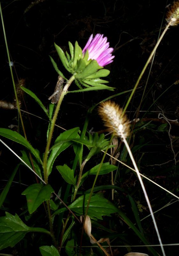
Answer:
M109 48L109 43L107 42L108 38L103 37L101 34L96 34L93 38L93 34L88 39L88 42L83 49L83 54L85 54L88 49L89 59L95 59L98 62L99 66L105 66L111 62L113 62L114 56L112 56L111 52L114 50L113 48Z

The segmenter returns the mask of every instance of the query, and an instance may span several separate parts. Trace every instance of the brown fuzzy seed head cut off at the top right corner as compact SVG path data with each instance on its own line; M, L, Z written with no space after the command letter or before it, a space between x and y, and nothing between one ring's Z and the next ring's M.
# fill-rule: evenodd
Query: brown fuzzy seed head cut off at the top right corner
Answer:
M168 23L171 23L171 26L179 24L179 0L174 1L173 5L171 5L170 10L167 13L166 20Z

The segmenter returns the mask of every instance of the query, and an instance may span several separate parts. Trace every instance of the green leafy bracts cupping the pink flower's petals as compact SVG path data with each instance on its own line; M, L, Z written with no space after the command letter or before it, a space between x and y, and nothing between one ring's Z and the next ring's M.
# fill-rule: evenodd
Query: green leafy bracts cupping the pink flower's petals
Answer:
M95 59L88 60L88 50L83 54L78 42L75 42L75 47L69 42L70 54L68 52L64 53L56 43L55 48L65 69L74 76L75 83L80 89L78 91L114 89L113 87L104 85L105 83L108 83L108 81L100 79L100 77L108 76L110 71L99 66ZM52 58L51 61L57 73L65 79L65 76L58 70L56 63ZM82 86L86 88L84 89Z

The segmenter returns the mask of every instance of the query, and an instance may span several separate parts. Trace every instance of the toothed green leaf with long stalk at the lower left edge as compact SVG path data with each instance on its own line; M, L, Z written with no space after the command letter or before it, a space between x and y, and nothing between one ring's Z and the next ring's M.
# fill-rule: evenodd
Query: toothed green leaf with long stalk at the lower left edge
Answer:
M26 235L27 232L42 232L50 235L50 232L42 228L31 228L21 221L19 216L6 213L0 217L0 250L11 246L13 247Z

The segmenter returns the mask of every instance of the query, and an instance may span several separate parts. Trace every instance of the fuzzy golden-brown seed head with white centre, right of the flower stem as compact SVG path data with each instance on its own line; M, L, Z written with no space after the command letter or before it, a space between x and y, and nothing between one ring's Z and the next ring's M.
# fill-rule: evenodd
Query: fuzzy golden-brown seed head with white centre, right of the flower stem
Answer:
M125 138L129 136L129 120L122 115L123 109L119 105L108 100L100 104L98 112L109 132L121 139L122 134Z

